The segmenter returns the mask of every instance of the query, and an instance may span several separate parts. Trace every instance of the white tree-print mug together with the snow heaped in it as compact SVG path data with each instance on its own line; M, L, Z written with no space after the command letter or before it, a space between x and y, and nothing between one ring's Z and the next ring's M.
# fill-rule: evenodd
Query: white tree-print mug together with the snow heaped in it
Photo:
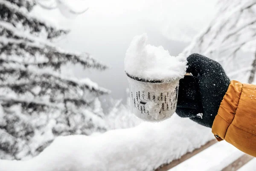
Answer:
M175 113L186 58L183 54L171 56L163 46L152 46L147 41L146 33L133 38L125 56L125 72L131 77L128 81L133 113L145 121L159 122Z

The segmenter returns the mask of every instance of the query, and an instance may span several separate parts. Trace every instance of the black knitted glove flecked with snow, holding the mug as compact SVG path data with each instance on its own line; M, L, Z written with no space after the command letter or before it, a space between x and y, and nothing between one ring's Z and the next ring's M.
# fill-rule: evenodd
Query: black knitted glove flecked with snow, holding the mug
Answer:
M212 128L230 79L218 62L203 55L192 54L187 61L193 76L180 80L176 113Z

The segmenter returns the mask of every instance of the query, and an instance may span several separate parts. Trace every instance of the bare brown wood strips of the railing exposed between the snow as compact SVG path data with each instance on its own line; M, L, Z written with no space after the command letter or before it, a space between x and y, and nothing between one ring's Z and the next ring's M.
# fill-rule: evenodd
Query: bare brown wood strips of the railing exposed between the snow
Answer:
M180 159L173 160L171 163L162 165L159 168L157 168L155 171L168 171L169 169L175 167L176 165L186 161L187 159L195 156L196 154L200 153L201 151L204 151L206 148L209 148L210 146L214 145L217 142L217 140L213 139L209 142L207 142L205 145L201 146L198 149L195 149L194 151L187 153L180 157ZM249 162L251 159L254 157L244 154L243 156L239 157L230 165L227 167L223 168L221 171L237 171L239 168L241 168L243 165L245 165L247 162Z

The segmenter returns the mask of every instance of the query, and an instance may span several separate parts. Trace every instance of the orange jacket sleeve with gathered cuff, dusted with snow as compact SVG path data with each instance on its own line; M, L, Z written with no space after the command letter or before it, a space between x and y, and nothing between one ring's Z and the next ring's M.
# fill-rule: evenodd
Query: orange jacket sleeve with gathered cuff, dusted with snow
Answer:
M218 141L226 140L256 157L256 85L231 81L212 125Z

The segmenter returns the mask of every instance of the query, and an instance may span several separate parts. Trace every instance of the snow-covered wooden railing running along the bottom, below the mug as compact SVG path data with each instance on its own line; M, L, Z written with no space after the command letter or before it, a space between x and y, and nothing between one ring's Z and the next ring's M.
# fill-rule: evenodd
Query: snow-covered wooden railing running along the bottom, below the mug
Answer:
M249 171L239 168L253 157L213 138L208 128L174 115L94 136L58 136L32 159L0 160L0 171Z

